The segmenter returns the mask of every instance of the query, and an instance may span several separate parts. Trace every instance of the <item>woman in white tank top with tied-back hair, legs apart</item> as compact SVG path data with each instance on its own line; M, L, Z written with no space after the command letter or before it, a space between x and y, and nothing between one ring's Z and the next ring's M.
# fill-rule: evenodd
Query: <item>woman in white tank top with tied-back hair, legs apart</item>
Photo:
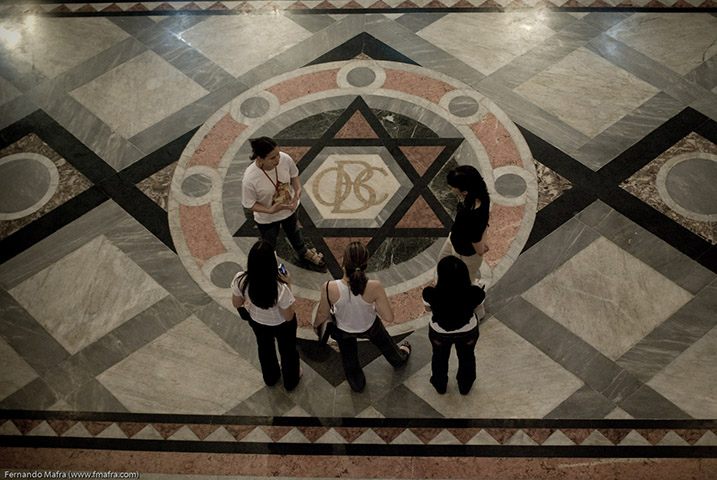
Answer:
M350 243L344 250L341 280L324 283L314 320L314 330L334 313L336 325L332 337L341 352L344 373L351 388L360 392L366 377L358 359L358 338L368 338L394 368L403 366L411 354L411 344L397 346L381 319L392 322L393 311L386 291L378 280L366 278L368 250L361 242Z

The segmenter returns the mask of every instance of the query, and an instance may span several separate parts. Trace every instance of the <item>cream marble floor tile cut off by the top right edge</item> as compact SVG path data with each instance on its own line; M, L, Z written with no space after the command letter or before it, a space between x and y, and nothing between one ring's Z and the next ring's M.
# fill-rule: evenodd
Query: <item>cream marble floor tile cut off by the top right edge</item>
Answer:
M717 18L709 13L635 13L607 33L682 75L717 54Z

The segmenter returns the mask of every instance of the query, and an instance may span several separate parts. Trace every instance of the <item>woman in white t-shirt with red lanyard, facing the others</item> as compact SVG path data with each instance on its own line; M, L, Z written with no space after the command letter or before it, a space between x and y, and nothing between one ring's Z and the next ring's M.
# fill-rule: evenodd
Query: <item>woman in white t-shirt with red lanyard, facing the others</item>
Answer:
M242 205L254 212L261 239L275 249L279 229L283 228L299 257L323 268L323 255L315 248L306 248L296 222L301 196L296 163L289 155L280 152L276 142L269 137L252 138L249 142L250 158L254 162L242 179Z

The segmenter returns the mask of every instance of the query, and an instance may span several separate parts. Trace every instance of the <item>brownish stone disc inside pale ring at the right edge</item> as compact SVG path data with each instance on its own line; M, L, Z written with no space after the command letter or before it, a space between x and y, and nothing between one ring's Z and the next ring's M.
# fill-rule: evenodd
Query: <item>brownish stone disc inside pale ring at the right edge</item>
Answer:
M665 186L681 207L702 215L717 214L717 162L694 158L678 163L667 173Z

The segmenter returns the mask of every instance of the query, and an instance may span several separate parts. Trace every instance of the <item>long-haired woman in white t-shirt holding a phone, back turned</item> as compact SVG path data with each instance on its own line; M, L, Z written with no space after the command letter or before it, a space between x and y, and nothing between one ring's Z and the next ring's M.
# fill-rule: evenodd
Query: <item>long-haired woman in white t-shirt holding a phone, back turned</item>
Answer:
M254 244L246 272L234 276L231 289L234 308L249 321L256 336L264 383L273 386L283 375L284 387L293 390L301 378L296 349L295 298L291 293L290 275L279 272L270 244L262 240ZM281 363L276 358L275 340Z

